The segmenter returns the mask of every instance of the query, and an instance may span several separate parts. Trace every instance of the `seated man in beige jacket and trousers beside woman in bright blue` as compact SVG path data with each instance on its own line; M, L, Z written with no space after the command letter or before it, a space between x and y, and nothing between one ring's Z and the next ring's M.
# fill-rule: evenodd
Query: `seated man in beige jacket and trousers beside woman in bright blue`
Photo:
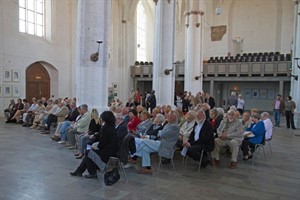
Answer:
M212 156L215 159L215 164L220 163L219 153L220 147L229 146L231 150L231 164L230 169L237 167L237 156L239 146L243 140L243 125L236 118L235 111L229 110L227 112L227 119L223 119L219 128L217 129L218 138L215 139L215 149Z

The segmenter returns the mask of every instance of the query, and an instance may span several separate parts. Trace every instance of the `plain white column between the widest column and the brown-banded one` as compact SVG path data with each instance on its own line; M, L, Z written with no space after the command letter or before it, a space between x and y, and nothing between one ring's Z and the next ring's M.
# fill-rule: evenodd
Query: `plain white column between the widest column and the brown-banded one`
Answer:
M175 50L175 0L156 0L153 89L156 91L157 104L174 104L175 68L169 75L165 69L174 67Z

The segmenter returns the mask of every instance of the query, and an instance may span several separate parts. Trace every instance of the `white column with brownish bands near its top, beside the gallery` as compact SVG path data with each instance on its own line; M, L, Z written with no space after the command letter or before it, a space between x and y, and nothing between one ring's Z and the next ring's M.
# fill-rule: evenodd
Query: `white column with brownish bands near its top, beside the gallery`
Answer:
M188 0L186 21L186 47L184 90L196 94L203 89L203 0ZM195 76L200 76L198 80Z

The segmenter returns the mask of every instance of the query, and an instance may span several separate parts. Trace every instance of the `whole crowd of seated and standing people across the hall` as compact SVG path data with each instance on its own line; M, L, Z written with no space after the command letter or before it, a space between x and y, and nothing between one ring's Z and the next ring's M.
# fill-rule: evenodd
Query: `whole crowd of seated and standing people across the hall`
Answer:
M174 148L196 161L203 151L203 168L212 161L219 165L220 152L225 149L231 157L229 168L235 169L239 151L244 160L249 160L256 144L272 138L269 113L255 108L245 111L242 95L234 92L228 98L226 112L215 107L214 98L207 93L194 96L185 92L177 106L156 105L155 91L149 93L144 106L138 96L138 91L133 92L126 105L112 100L109 110L100 115L86 104L78 106L76 98L32 98L31 105L26 99L18 99L17 103L11 100L4 112L7 123L19 123L42 134L55 129L51 139L68 149L77 149L76 159L82 159L70 174L82 176L87 170L86 178L97 178L96 170L104 170L110 157L118 157L125 168L141 158L138 173L152 174L150 154L157 152L167 164ZM295 129L296 104L292 97L283 102L278 95L273 106L275 126L280 125L280 113L285 109L287 128Z

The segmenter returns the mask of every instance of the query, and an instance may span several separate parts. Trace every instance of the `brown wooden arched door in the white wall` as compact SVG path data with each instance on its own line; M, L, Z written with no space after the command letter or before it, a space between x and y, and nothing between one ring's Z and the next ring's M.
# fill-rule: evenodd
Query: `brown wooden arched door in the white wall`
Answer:
M50 97L50 77L47 70L39 62L33 63L26 70L26 98Z

